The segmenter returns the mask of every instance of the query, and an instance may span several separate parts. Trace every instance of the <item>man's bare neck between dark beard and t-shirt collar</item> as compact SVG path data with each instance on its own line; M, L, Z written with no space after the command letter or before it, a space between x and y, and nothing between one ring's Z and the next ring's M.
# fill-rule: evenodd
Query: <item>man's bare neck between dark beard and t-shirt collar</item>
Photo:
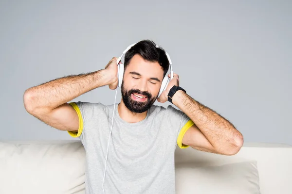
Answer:
M147 111L144 113L133 113L124 104L123 100L118 104L118 113L120 117L128 123L137 123L142 121L147 116Z

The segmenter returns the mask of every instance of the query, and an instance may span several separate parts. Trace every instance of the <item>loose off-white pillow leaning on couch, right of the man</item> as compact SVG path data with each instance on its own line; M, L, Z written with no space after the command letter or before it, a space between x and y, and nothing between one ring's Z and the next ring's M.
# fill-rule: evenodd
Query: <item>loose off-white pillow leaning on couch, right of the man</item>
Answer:
M176 168L178 194L260 194L256 162Z

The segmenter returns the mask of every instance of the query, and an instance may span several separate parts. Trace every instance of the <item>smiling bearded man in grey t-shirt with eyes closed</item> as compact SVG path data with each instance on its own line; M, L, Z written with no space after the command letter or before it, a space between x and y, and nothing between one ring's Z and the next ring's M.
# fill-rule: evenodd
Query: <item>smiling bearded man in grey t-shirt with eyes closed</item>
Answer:
M236 154L243 137L218 113L194 100L179 86L179 76L157 99L169 62L164 49L143 40L125 55L122 100L115 108L102 103L71 102L95 88L117 88L117 58L104 69L68 76L29 88L28 113L79 137L86 150L87 194L174 194L174 151L192 147L223 155ZM155 106L169 100L180 110ZM111 121L109 155L104 178Z

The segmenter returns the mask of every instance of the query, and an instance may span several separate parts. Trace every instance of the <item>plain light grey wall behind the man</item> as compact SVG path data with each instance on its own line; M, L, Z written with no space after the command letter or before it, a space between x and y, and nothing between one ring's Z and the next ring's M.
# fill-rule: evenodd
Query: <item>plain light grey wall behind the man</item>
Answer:
M73 139L28 114L24 91L104 68L128 45L152 39L188 94L231 121L245 142L292 145L291 2L2 0L0 139ZM74 100L112 104L114 95L105 86Z

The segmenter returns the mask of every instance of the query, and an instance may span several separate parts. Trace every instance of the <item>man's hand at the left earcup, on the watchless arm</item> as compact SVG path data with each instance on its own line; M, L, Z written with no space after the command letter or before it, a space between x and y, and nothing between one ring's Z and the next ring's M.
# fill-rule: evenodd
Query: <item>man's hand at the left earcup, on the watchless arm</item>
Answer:
M118 58L113 57L108 65L105 67L107 71L107 75L109 76L109 88L111 90L115 90L118 86L118 65L117 65ZM121 61L119 62L121 64Z

